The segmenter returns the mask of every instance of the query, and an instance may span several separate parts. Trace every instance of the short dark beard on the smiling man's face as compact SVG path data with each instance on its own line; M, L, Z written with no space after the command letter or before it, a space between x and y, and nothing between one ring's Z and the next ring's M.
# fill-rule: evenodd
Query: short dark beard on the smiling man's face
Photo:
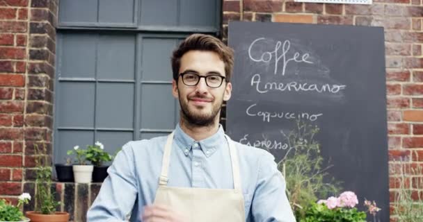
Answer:
M196 97L201 98L201 96ZM195 112L196 110L192 109L190 110L188 101L183 101L180 94L179 105L181 106L181 118L184 119L186 123L189 123L191 126L212 126L214 121L216 121L216 117L221 112L223 96L221 101L217 101L217 103L212 105L212 110L206 113Z

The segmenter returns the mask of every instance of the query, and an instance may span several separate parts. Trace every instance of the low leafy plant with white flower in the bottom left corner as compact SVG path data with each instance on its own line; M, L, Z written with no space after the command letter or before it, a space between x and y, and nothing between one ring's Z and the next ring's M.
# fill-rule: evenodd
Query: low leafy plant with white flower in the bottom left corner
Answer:
M31 195L24 193L19 196L19 200L16 206L11 203L6 203L6 200L0 200L0 221L1 222L28 222L29 219L24 216L24 213L20 210L20 206L24 205L31 200Z

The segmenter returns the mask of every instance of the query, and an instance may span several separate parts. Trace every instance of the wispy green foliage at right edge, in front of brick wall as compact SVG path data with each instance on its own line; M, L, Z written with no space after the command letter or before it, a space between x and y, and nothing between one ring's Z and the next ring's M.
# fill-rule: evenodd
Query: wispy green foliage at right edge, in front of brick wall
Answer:
M417 152L415 154L417 155ZM423 221L423 192L421 191L423 189L423 167L417 165L413 168L409 164L404 165L401 162L394 162L393 166L394 168L399 166L399 176L397 176L399 189L396 191L393 203L395 217L398 217L398 221ZM413 198L413 193L417 193L415 198Z

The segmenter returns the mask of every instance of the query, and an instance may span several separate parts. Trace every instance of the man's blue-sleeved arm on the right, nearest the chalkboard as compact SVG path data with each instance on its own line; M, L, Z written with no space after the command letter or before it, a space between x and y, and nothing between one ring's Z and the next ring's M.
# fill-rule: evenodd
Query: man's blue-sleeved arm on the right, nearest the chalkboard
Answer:
M255 222L295 222L292 208L285 193L285 178L278 171L270 153L262 155L257 185L251 204Z

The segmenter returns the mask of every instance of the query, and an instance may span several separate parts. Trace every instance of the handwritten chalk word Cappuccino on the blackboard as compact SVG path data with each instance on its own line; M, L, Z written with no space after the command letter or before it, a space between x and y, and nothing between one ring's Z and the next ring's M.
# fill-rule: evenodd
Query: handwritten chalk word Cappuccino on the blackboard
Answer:
M294 112L268 112L268 111L254 111L253 108L257 103L250 105L246 114L250 117L262 117L262 121L270 122L272 119L307 119L310 121L316 121L318 117L323 115L322 113L309 114L308 112L294 113Z

